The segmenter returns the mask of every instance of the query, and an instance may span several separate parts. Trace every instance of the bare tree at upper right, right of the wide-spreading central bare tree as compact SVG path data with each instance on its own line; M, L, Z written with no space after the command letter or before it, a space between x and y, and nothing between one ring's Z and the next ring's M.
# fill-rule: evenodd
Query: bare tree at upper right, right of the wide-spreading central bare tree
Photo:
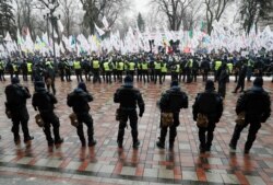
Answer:
M205 0L207 34L211 34L214 20L219 21L229 2L233 0Z

